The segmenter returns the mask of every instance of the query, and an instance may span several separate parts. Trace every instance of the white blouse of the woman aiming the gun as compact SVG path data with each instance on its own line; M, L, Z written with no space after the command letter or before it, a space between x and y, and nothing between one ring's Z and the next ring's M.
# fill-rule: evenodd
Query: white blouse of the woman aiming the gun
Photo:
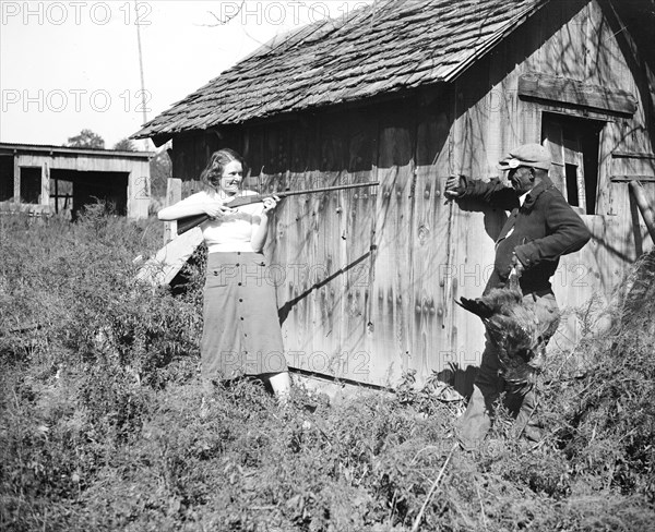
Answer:
M253 194L257 193L242 191L240 195ZM195 204L212 201L214 201L213 196L202 191L182 200L182 203ZM250 240L261 222L264 206L262 203L252 203L237 207L235 210L236 213L226 215L222 220L207 220L200 226L210 253L252 252Z

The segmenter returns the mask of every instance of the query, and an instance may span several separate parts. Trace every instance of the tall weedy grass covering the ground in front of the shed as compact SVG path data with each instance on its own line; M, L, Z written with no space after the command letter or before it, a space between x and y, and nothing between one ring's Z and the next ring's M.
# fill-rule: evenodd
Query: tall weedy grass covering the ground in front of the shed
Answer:
M2 530L652 528L647 283L632 279L614 328L581 344L586 374L550 360L540 443L501 412L463 454L456 409L410 375L332 406L296 387L286 409L250 382L202 389L201 269L175 294L133 281L154 221L3 217L0 237Z

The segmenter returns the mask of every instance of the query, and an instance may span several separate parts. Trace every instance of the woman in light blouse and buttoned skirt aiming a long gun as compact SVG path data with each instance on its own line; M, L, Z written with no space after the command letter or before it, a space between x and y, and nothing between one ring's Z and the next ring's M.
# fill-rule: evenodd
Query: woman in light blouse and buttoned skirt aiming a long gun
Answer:
M210 216L201 226L209 251L201 340L203 379L257 376L284 400L290 379L275 288L265 277L262 253L269 215L279 198L225 206L237 195L254 194L241 191L243 160L231 149L212 154L200 179L203 192L159 210L158 218Z

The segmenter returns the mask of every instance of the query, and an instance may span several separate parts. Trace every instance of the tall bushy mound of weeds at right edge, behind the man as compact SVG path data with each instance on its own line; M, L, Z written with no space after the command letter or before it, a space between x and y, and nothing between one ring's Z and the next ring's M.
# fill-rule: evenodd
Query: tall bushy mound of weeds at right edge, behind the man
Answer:
M582 342L581 378L558 376L549 395L570 468L596 488L655 501L655 252L643 256L618 293L608 331ZM558 403L567 401L565 415Z

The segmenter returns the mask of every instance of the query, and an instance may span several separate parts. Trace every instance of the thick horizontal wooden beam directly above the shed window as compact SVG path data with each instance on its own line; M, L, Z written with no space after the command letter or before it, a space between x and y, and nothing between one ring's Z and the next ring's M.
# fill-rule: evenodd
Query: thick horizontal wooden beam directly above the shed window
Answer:
M529 72L519 77L519 96L621 114L634 114L636 111L636 99L628 90L599 87L569 77L537 72Z

